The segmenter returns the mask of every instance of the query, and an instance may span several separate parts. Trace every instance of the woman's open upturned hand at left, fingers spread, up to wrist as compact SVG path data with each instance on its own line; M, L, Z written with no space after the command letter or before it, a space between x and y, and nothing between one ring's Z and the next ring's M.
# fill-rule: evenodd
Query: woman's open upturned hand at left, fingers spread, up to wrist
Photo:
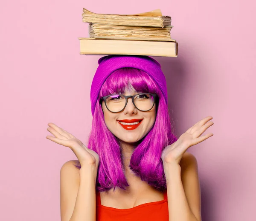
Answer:
M81 167L93 165L98 168L99 155L95 151L87 148L79 139L61 127L58 127L53 123L49 123L48 126L49 127L47 130L55 137L46 136L47 139L65 147L70 147L70 149L75 153L77 159L79 160Z

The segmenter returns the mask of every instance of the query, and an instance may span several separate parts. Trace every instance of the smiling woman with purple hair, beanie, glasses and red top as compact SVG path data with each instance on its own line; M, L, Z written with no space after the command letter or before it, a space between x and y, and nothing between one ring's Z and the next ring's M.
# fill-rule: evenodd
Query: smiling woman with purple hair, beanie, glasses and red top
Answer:
M53 123L47 139L78 160L60 172L61 221L201 221L195 156L212 116L179 139L172 134L166 79L147 56L105 56L91 87L92 129L85 146Z

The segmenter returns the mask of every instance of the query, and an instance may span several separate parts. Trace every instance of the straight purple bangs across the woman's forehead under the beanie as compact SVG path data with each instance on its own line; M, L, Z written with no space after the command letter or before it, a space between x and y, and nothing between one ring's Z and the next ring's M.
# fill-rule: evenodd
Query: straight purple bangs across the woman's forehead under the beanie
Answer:
M102 85L99 96L123 94L125 90L133 88L138 93L157 93L157 85L151 77L137 68L120 68L114 71Z

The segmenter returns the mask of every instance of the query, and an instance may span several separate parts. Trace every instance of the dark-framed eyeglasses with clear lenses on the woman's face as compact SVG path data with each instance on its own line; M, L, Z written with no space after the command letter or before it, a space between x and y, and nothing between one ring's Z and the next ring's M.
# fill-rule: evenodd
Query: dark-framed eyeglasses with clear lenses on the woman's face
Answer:
M123 111L128 103L128 98L132 99L132 103L139 111L150 111L157 98L156 94L140 93L134 95L111 94L103 96L101 101L104 100L106 108L112 113Z

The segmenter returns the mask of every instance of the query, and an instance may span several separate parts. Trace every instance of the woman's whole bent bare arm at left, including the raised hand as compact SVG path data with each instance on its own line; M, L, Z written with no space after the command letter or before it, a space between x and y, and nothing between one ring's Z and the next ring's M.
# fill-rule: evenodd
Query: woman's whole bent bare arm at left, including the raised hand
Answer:
M48 123L47 130L53 136L47 139L69 147L75 153L76 161L67 161L60 172L61 221L96 221L95 184L99 166L99 155L86 147L81 140L54 123Z

